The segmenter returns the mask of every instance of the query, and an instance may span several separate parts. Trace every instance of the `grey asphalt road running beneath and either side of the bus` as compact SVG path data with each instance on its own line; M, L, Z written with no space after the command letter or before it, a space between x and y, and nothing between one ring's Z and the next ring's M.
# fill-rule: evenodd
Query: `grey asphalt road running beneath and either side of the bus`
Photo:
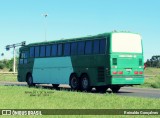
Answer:
M1 86L27 86L25 82L0 82ZM51 88L51 85L38 85L43 86L45 88ZM69 89L70 87L68 85L60 85L62 89ZM108 93L111 93L111 90L107 90ZM93 89L93 94L96 94L95 90ZM132 96L132 97L145 97L145 98L160 98L160 89L151 89L151 88L135 88L135 87L122 87L118 93L115 93L117 95L123 95L123 96Z

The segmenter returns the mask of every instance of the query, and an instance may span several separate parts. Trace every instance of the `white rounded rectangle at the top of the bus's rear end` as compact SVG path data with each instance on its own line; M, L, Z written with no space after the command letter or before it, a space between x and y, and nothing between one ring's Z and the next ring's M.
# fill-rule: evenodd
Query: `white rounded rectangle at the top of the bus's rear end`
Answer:
M140 35L131 33L113 33L112 52L142 53Z

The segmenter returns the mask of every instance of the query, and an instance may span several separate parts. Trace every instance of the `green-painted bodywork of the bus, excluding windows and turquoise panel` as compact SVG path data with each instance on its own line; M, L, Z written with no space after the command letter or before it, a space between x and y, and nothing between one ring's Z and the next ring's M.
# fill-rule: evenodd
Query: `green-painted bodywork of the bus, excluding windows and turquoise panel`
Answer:
M73 73L76 73L80 77L83 73L88 74L90 85L91 86L104 86L104 85L136 85L142 84L144 82L144 75L135 76L134 71L142 71L142 68L139 68L139 59L142 59L143 64L143 52L139 53L112 53L111 51L111 34L104 33L96 36L50 41L50 42L41 42L41 43L32 43L25 47L20 48L20 52L29 51L29 47L37 45L49 45L49 44L58 44L66 42L76 42L82 40L94 40L106 38L107 47L105 54L94 54L94 55L78 55L70 56ZM119 55L136 55L136 58L122 58ZM47 58L56 58L56 57L47 57ZM117 59L117 68L113 68L112 58ZM33 72L34 58L28 58L28 64L18 66L18 81L26 81L27 73ZM54 65L53 65L54 67ZM126 69L131 68L131 72L127 72ZM57 68L60 69L60 68ZM123 75L113 75L113 71L123 71ZM65 74L65 73L58 73ZM71 74L71 73L70 73ZM127 80L126 78L132 78L132 80ZM61 78L59 78L61 79ZM69 76L66 76L66 79L69 81ZM51 83L56 84L56 83Z

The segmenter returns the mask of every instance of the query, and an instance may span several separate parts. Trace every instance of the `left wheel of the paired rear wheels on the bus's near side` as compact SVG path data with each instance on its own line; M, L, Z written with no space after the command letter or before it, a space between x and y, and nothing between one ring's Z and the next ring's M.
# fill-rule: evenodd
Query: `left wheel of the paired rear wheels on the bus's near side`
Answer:
M70 76L70 86L71 86L71 90L79 90L80 82L76 74L72 74Z

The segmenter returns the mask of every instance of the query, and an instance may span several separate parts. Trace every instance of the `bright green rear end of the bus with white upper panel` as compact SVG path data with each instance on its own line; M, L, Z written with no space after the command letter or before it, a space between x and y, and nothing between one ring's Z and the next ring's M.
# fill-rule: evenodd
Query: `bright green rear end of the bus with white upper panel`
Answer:
M110 84L115 89L144 83L142 39L139 34L112 33Z

